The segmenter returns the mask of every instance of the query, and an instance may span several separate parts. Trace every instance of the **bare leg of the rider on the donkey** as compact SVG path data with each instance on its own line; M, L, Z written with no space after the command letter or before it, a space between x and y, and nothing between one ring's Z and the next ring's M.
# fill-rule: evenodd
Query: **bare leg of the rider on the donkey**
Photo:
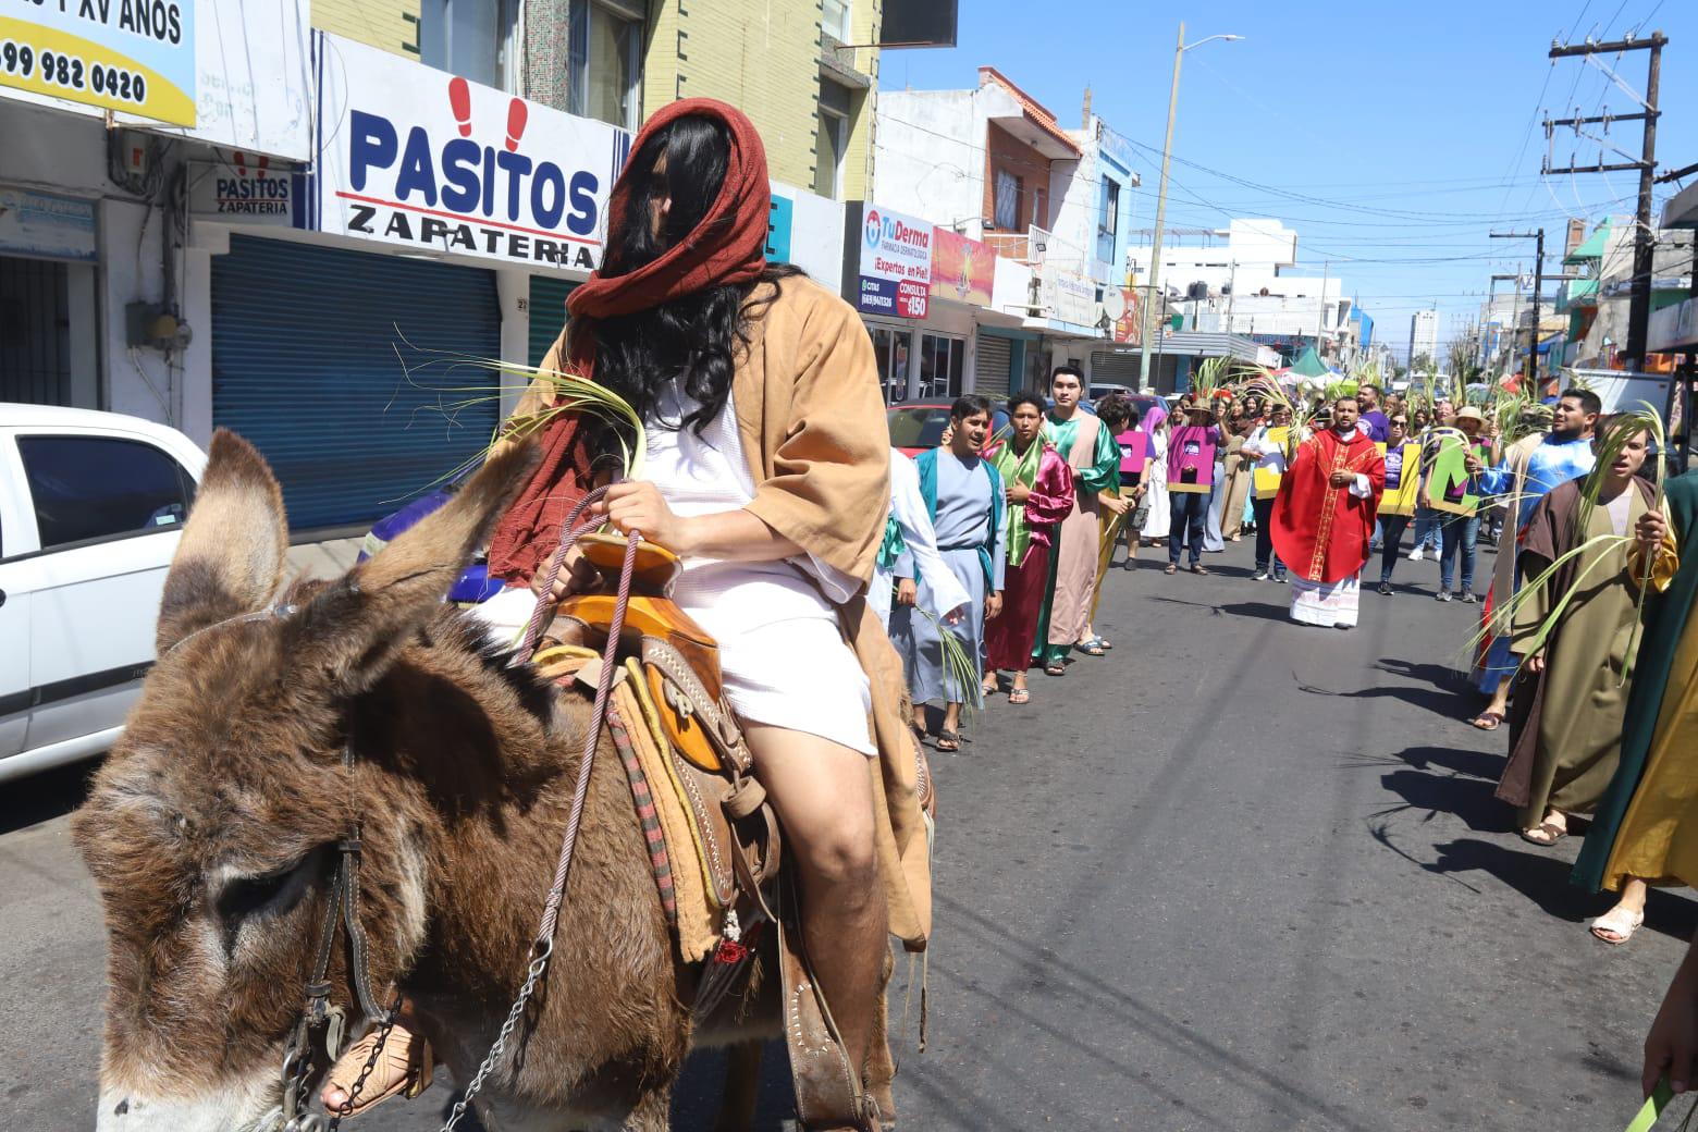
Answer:
M744 728L801 881L801 932L849 1057L866 1066L888 954L866 755L818 735Z

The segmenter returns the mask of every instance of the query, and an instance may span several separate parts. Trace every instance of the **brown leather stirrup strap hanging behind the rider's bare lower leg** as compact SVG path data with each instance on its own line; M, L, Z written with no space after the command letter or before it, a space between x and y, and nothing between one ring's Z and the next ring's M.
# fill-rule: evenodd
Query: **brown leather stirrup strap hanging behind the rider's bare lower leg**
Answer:
M781 877L786 911L795 911L793 883ZM796 1093L796 1120L803 1129L856 1129L878 1132L876 1107L861 1090L861 1073L851 1064L801 945L801 930L778 920L778 972L784 993L784 1044L790 1047L790 1083Z

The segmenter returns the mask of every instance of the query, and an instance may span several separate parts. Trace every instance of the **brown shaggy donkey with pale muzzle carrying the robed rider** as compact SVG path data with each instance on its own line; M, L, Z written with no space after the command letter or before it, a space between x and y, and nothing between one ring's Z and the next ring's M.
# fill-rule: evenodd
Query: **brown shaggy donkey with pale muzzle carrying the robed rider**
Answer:
M107 923L100 1132L280 1124L284 1047L355 823L372 986L406 995L458 1081L475 1071L525 978L591 715L443 604L535 460L492 457L380 555L273 608L282 494L246 441L212 440L160 660L71 827ZM666 1129L701 1039L694 976L601 743L554 967L481 1100L492 1132ZM331 998L357 1013L345 942ZM776 1003L751 1013L776 1034ZM745 1076L722 1127L747 1127L752 1103Z

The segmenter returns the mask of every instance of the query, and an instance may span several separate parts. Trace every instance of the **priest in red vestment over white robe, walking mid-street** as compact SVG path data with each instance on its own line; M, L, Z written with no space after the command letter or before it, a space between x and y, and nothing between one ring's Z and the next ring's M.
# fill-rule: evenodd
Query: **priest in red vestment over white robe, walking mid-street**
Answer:
M1333 402L1333 424L1297 446L1274 499L1274 550L1290 570L1290 619L1357 623L1358 575L1386 490L1386 457L1358 428L1355 397Z

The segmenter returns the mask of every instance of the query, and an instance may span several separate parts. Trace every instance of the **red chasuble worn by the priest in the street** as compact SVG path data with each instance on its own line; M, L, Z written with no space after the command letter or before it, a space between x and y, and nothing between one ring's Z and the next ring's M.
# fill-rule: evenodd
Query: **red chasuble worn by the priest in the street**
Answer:
M1358 499L1350 484L1333 487L1333 472L1369 477L1369 497ZM1408 475L1408 472L1406 472ZM1274 550L1297 577L1331 586L1367 565L1374 541L1374 514L1386 490L1386 457L1357 429L1338 440L1326 429L1302 441L1274 497Z

